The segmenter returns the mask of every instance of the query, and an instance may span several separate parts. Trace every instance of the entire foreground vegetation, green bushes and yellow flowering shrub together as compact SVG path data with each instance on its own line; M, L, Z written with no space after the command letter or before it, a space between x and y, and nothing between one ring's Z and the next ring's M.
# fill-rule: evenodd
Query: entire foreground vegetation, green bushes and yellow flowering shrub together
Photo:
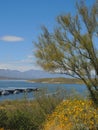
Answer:
M0 130L97 130L98 108L76 93L46 90L34 100L0 102Z

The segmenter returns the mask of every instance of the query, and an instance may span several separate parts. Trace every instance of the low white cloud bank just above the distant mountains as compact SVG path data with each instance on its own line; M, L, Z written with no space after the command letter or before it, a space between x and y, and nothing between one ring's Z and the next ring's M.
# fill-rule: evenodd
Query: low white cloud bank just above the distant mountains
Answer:
M25 59L14 60L5 63L0 63L0 69L11 69L11 70L41 70L40 66L36 64L36 59L33 55L28 55Z

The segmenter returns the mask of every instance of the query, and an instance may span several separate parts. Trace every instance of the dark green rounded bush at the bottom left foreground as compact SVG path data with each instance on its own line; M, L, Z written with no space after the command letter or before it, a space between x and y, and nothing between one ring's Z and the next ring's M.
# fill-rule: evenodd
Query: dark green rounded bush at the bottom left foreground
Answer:
M9 116L8 128L10 130L33 130L31 115L25 110L16 110Z

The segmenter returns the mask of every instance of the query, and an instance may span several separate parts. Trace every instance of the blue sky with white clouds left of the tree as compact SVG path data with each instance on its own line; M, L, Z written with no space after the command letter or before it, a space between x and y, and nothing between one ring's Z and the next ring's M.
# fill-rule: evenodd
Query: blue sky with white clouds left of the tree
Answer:
M79 1L79 0L78 0ZM86 0L92 4L95 0ZM0 69L41 69L35 46L45 25L52 31L60 14L75 14L76 0L0 0Z

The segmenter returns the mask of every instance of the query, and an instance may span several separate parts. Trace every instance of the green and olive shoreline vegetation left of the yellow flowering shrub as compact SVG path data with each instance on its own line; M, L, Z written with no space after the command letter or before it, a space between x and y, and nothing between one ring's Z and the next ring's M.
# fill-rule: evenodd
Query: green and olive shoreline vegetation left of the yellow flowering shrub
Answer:
M46 95L35 92L36 99L0 102L0 128L4 130L40 130L48 114L64 99L63 92Z

